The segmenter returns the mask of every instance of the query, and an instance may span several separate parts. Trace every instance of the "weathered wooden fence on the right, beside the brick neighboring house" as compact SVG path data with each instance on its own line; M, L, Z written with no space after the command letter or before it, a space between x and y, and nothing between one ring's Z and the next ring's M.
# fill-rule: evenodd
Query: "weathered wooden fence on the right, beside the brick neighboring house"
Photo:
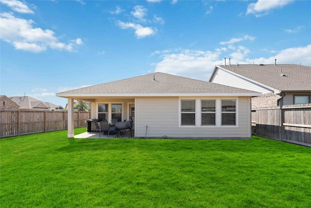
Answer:
M253 109L252 132L311 147L311 104Z

